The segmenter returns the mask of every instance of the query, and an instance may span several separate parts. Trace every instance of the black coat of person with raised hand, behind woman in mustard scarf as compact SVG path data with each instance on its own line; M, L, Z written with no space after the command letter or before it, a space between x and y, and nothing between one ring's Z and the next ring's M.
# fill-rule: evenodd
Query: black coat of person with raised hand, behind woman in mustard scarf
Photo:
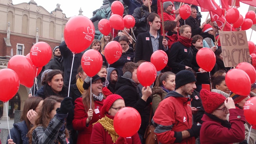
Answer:
M119 78L115 85L115 93L122 96L126 107L133 107L141 115L141 127L138 133L144 135L148 125L150 108L149 104L152 99L149 97L147 102L139 97L138 89L132 85L132 82L126 78Z

